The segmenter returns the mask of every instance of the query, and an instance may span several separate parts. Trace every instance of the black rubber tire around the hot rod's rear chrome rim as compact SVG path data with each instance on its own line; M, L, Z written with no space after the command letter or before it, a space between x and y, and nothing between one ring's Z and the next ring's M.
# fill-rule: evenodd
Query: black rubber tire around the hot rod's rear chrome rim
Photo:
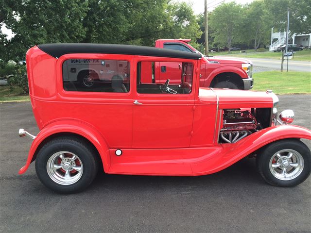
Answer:
M69 151L79 158L80 168L83 167L83 169L80 178L75 183L67 185L56 183L48 174L47 163L59 151ZM39 150L35 161L35 171L40 181L55 192L62 194L80 192L92 183L97 174L99 162L96 155L96 151L84 140L70 136L58 137L46 143ZM59 174L62 171L58 169L57 172ZM72 174L70 176L74 177Z

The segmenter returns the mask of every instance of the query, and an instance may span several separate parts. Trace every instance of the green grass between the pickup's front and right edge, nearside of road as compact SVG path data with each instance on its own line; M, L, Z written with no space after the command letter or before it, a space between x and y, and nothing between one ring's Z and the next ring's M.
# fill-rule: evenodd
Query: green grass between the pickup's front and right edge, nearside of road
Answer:
M276 94L311 94L311 73L266 71L253 74L254 91L273 90Z

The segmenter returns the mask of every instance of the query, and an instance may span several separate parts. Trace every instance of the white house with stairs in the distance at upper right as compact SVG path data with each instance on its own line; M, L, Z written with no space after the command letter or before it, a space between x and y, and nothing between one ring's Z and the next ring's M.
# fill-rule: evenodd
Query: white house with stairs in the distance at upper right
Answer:
M273 51L281 44L286 44L286 32L273 33L273 28L271 29L271 44L269 50ZM311 33L309 34L291 34L289 32L288 44L300 44L304 47L311 46Z

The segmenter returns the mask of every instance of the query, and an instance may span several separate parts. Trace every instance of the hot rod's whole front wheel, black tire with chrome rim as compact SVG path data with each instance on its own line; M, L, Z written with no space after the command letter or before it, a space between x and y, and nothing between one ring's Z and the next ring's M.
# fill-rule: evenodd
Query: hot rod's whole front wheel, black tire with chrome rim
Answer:
M256 162L260 175L267 183L292 187L310 175L311 152L297 139L284 139L261 150Z

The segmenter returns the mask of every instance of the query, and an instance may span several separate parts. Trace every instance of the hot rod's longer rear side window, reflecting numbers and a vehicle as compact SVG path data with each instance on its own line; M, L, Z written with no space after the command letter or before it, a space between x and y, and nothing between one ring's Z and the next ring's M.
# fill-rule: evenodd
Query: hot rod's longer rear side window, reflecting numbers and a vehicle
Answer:
M63 63L66 91L130 91L130 63L119 60L68 59Z

